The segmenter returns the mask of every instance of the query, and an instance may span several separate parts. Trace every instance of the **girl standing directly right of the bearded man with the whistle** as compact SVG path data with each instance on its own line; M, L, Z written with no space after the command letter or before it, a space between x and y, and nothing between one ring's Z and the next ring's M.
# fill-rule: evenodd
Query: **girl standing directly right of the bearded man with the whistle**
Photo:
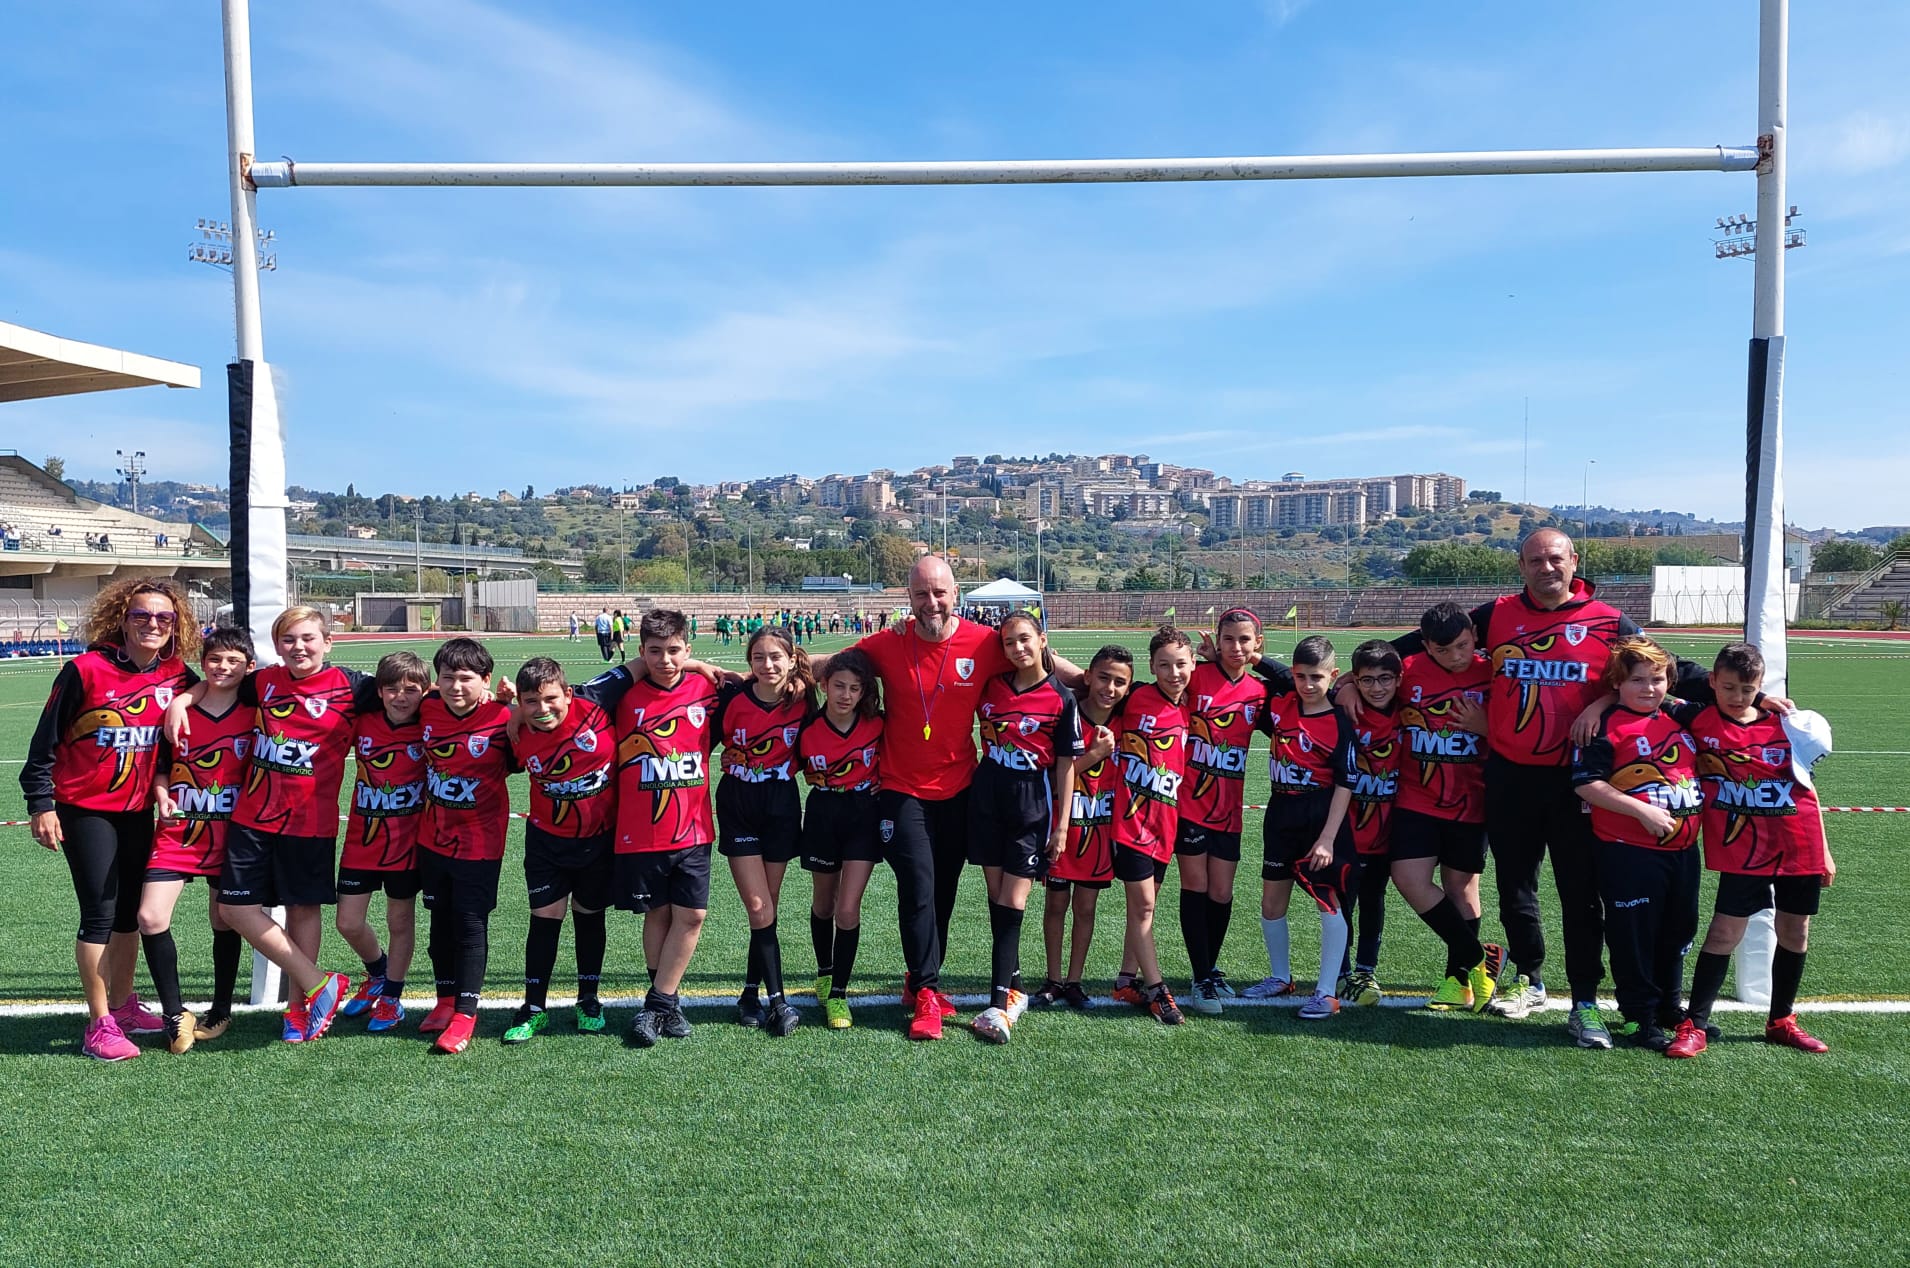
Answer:
M989 1003L972 1029L987 1043L1008 1043L1028 1008L1022 915L1028 890L1068 846L1081 752L1075 699L1054 680L1041 617L1010 613L1001 649L1010 668L982 687L982 760L968 792L968 861L987 878L993 943Z

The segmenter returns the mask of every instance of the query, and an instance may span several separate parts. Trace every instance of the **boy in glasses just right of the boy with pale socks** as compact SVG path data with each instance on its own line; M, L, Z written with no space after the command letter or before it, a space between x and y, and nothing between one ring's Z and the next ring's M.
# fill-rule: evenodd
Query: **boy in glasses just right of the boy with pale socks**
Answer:
M1347 771L1352 804L1352 848L1358 875L1347 890L1347 922L1358 926L1352 962L1347 964L1337 995L1347 1004L1377 1004L1387 993L1379 985L1379 941L1387 928L1387 852L1392 838L1392 798L1400 787L1398 689L1400 653L1383 638L1352 649L1352 686L1360 691L1360 716L1352 728L1352 768Z

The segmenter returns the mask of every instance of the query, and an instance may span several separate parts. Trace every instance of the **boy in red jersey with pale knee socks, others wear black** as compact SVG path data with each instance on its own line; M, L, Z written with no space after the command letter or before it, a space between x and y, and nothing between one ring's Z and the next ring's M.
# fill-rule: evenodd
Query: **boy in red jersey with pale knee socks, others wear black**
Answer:
M1293 993L1287 903L1293 882L1299 880L1320 909L1320 980L1312 997L1301 1004L1306 1020L1339 1012L1333 983L1347 957L1347 917L1341 905L1358 867L1347 823L1352 804L1347 771L1354 768L1354 731L1347 714L1333 708L1329 699L1335 672L1333 644L1320 634L1303 638L1293 647L1293 668L1268 686L1257 724L1272 739L1272 796L1261 859L1261 934L1266 940L1268 974L1247 987L1245 995L1272 999Z

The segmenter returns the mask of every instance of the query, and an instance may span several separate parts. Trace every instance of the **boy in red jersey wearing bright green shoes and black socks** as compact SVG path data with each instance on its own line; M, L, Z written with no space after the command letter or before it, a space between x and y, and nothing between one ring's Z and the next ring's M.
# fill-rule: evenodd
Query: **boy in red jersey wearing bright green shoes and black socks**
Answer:
M605 674L604 678L611 678ZM598 680L602 684L602 678ZM611 831L617 823L617 708L621 687L571 689L563 666L533 657L518 670L512 752L531 775L531 814L523 829L523 882L531 932L523 941L523 1006L504 1043L529 1043L550 1024L550 976L565 909L577 940L577 1029L604 1029L604 978L609 907Z

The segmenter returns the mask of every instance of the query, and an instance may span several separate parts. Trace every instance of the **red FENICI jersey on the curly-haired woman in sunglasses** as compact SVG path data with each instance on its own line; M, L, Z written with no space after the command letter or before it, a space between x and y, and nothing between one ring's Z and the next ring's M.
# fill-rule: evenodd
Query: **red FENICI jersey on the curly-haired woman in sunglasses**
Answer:
M136 670L118 647L73 657L80 712L53 745L53 796L86 810L145 810L159 771L160 718L195 678L180 657Z

